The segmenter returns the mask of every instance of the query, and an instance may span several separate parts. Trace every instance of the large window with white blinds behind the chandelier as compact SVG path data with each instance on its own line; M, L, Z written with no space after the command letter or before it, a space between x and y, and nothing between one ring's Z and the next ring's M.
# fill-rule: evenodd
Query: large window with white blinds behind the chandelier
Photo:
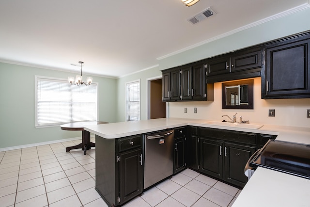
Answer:
M97 121L97 84L71 85L67 80L35 77L35 126Z

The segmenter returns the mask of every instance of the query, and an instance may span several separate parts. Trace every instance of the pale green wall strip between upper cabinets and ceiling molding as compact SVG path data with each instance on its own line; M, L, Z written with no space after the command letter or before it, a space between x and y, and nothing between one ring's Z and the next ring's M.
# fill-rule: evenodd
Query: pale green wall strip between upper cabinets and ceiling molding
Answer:
M310 30L310 8L282 16L248 29L230 34L196 48L162 58L158 61L159 69L167 69L182 64L192 63L219 54ZM197 25L199 26L199 25ZM205 28L207 32L208 28Z

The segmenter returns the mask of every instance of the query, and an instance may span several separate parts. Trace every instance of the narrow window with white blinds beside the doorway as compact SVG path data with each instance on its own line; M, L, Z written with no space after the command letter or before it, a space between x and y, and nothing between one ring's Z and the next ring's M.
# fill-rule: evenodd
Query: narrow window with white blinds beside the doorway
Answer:
M126 83L126 121L140 120L140 80Z

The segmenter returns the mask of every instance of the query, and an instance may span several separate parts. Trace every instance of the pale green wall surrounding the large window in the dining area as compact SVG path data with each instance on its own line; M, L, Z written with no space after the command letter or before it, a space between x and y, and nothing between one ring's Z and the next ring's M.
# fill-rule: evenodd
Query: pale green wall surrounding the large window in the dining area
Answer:
M0 148L81 137L81 131L34 127L35 75L66 79L76 74L0 63ZM116 79L92 77L99 83L99 120L116 122Z

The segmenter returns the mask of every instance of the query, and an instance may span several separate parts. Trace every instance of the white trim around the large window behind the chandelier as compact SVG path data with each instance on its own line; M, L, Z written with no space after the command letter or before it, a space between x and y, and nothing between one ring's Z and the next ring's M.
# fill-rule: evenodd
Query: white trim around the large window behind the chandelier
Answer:
M37 109L37 101L38 101L38 79L50 79L50 80L60 80L60 81L68 81L68 79L62 79L62 78L54 78L54 77L47 77L47 76L34 76L34 126L36 128L46 128L46 127L59 127L62 124L56 124L56 125L46 125L46 126L38 126L38 109ZM96 90L97 90L97 121L99 119L99 83L98 82L93 82L96 84ZM80 86L77 86L80 87ZM86 86L87 87L87 86Z

